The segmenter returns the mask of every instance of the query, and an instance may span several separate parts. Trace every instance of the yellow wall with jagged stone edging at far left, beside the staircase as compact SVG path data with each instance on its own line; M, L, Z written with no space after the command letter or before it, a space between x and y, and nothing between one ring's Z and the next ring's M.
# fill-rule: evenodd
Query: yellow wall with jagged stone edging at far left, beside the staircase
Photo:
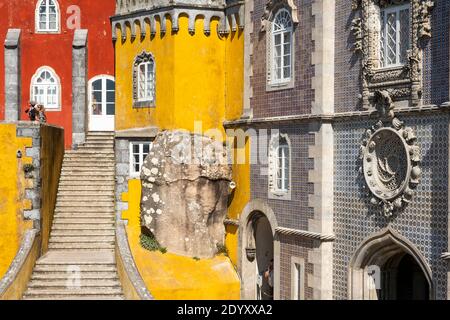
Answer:
M17 159L17 151L26 154L26 147L32 146L31 138L16 137L16 125L0 124L0 278L8 270L17 254L24 232L31 224L23 220L23 211L31 207L24 200L26 187L23 165L31 158Z

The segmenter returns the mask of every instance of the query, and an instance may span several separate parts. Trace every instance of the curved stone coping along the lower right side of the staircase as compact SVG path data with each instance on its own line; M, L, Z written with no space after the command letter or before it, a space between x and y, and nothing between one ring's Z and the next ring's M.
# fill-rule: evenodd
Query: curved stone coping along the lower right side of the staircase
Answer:
M123 262L126 277L134 287L137 295L141 300L154 300L152 294L148 291L144 280L136 267L133 255L128 244L126 224L124 220L117 221L116 227L116 241L117 241L117 254Z

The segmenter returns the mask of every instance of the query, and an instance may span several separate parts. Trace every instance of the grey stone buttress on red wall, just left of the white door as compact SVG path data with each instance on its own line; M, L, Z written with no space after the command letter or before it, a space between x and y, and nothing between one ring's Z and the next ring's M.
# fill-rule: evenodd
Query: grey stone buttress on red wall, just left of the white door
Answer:
M86 138L87 123L87 37L86 29L75 30L72 44L72 146Z

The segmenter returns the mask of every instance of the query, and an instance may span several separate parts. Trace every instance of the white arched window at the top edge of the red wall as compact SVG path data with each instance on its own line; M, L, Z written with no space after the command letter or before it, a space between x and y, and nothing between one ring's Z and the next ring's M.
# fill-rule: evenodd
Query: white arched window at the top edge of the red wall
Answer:
M58 1L38 1L36 6L36 32L59 32L59 20Z

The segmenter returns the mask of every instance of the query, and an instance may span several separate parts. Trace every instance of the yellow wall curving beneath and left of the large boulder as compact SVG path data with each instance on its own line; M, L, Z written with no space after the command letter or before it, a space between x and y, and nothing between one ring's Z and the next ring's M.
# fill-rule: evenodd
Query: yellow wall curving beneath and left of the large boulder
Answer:
M128 183L128 210L122 218L128 220L128 242L134 261L151 294L159 300L238 300L240 283L229 258L195 261L171 253L150 252L139 243L139 203L141 184L137 179Z

